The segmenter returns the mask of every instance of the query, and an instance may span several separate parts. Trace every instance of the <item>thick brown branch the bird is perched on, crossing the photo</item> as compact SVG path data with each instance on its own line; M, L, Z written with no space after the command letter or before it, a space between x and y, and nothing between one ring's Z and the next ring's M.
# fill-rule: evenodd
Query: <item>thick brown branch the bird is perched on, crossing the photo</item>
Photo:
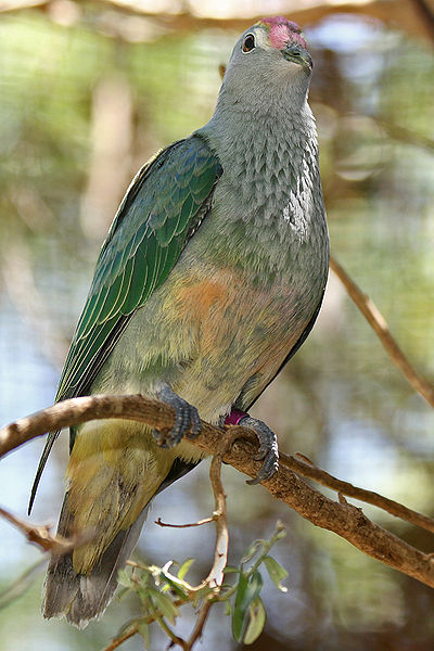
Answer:
M107 418L133 420L151 427L167 429L173 426L175 412L171 407L140 395L72 398L0 430L0 456L46 432ZM243 441L237 441L232 445L225 461L250 476L256 476L260 467L260 462L254 460L257 450L256 435L240 425L232 426L231 434ZM222 431L219 427L203 422L202 433L192 443L215 455L220 449L221 437ZM306 468L304 470L307 472ZM279 471L264 482L263 486L317 526L334 532L368 556L434 587L434 560L430 554L378 526L361 509L327 498L285 468L284 463L280 464Z

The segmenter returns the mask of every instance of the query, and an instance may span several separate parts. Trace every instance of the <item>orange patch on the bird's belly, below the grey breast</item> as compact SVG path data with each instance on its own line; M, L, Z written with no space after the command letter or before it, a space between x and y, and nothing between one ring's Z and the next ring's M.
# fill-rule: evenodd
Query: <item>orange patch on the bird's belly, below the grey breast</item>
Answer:
M165 302L166 318L178 333L191 336L186 326L196 329L197 376L221 374L231 360L242 362L247 375L275 373L298 334L288 331L290 290L254 288L240 270L206 271L174 279Z

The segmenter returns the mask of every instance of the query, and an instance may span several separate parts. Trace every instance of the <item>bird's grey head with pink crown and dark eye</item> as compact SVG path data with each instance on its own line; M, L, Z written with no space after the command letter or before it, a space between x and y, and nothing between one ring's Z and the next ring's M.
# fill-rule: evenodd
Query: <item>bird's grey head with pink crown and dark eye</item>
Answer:
M242 34L233 48L224 86L253 105L279 94L305 100L312 69L306 39L283 16L263 18ZM245 106L247 108L247 106Z

